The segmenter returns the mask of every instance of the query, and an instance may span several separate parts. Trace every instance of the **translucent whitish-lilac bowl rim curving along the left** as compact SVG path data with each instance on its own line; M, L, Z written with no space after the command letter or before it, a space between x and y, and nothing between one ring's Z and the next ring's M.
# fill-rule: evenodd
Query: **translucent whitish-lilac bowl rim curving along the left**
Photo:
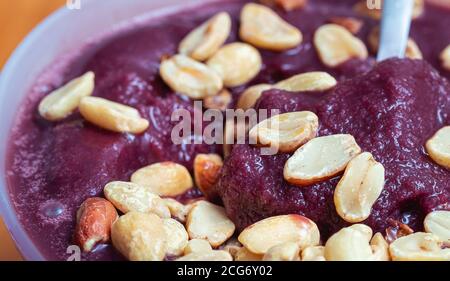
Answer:
M6 150L21 101L42 71L63 54L81 47L136 17L144 19L217 0L80 0L80 10L67 7L45 19L20 44L0 76L0 215L27 260L44 260L25 232L10 201L5 171Z

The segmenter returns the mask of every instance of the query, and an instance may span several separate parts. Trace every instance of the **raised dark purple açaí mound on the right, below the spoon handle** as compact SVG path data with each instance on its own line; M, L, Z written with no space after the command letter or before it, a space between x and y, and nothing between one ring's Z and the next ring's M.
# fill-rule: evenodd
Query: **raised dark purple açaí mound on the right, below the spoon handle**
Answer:
M325 94L270 90L257 108L313 111L319 135L352 134L384 165L385 188L364 221L374 231L384 233L389 219L420 229L428 212L450 208L450 172L424 151L426 140L450 123L450 85L428 63L388 60ZM258 148L235 145L216 186L240 229L290 213L315 221L325 237L345 226L333 202L339 177L296 187L283 180L290 155L260 154Z

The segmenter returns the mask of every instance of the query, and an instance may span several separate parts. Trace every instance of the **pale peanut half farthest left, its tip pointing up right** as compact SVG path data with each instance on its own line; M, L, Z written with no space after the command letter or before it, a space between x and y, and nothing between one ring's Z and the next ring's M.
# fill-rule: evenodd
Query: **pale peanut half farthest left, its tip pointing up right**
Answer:
M49 121L66 118L77 109L83 97L92 95L94 78L90 71L51 92L39 103L39 114Z

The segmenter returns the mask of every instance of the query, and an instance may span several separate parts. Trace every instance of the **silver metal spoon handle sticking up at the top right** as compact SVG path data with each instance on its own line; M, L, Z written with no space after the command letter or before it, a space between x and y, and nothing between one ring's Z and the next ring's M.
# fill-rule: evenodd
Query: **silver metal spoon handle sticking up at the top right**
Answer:
M405 56L413 7L414 0L385 0L383 2L378 61Z

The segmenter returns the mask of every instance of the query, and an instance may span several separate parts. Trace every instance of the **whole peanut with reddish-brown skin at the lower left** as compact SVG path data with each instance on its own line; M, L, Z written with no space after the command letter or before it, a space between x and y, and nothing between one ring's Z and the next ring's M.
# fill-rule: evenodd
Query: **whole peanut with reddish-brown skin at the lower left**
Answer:
M83 251L90 252L97 243L110 240L111 225L118 215L114 206L103 198L89 198L77 212L74 241Z

